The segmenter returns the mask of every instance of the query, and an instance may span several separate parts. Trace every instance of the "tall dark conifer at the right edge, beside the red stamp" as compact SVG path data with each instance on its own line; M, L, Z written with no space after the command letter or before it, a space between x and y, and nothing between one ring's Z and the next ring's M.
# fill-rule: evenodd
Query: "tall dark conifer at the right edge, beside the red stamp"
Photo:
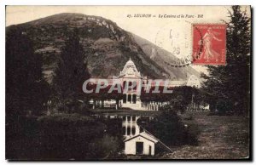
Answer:
M207 66L203 88L211 109L244 113L250 99L251 19L240 6L232 6L227 23L227 65ZM220 105L222 104L222 105Z

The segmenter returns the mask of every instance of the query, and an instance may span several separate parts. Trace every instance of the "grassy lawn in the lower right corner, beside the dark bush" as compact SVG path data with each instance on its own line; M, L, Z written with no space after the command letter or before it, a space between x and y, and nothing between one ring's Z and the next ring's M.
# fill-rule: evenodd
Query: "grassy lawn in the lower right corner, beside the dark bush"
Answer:
M249 156L249 118L237 116L207 116L195 112L192 120L199 125L199 145L183 145L167 159L244 159ZM184 121L186 122L186 121Z

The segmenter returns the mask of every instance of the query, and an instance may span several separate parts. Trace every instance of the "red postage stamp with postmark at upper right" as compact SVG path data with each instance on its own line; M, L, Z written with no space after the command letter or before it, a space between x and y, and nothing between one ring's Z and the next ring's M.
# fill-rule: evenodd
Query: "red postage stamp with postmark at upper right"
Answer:
M193 64L226 64L226 26L224 24L193 25Z

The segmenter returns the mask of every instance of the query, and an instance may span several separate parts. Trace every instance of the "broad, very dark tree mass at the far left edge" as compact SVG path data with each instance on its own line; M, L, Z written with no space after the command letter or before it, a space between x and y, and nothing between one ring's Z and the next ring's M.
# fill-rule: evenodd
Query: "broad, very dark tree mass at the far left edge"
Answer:
M27 111L39 113L49 95L42 74L41 56L16 26L6 33L6 114L12 120Z

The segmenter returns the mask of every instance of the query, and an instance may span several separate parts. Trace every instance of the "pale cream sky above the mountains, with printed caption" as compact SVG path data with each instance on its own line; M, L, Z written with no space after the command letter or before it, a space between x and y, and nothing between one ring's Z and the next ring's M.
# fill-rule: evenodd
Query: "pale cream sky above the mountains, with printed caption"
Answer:
M169 41L169 37L166 35L170 32L170 29L178 31L179 34L188 33L189 44L192 44L189 24L222 23L221 20L228 21L228 9L230 9L230 6L7 6L6 26L25 23L60 13L96 15L112 20L125 31L131 31L137 36L143 37L151 43L155 43L157 46L172 52L173 46L169 44L171 41ZM247 13L250 15L248 6L242 6L242 9L247 9ZM134 17L135 14L151 14L151 17ZM177 18L177 15L181 14L183 14L184 18ZM132 17L129 18L129 15ZM155 15L155 17L152 17L152 15ZM165 15L169 17L164 18ZM173 18L173 15L176 18ZM198 15L202 16L198 18ZM178 41L183 42L183 39L179 38ZM184 51L181 53L187 54L185 48L181 49ZM206 67L201 65L192 66L197 71L207 73Z

